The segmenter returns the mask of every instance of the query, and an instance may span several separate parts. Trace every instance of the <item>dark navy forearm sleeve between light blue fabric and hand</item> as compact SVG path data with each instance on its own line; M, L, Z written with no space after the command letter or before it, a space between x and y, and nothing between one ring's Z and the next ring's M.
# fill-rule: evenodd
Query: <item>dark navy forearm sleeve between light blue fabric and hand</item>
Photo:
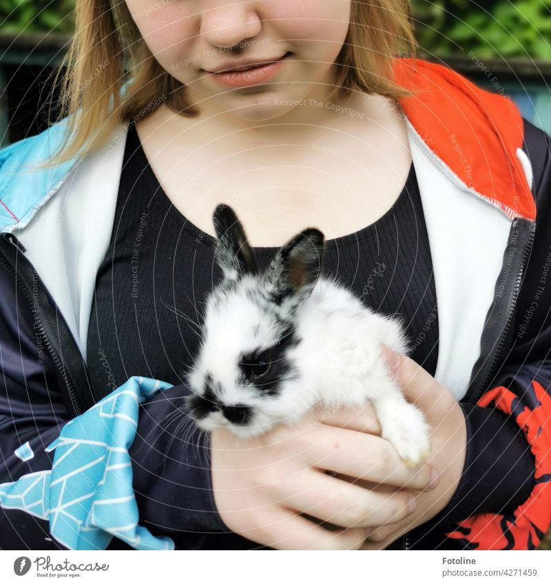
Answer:
M129 449L140 519L152 533L227 531L212 492L210 434L183 413L185 384L141 406Z

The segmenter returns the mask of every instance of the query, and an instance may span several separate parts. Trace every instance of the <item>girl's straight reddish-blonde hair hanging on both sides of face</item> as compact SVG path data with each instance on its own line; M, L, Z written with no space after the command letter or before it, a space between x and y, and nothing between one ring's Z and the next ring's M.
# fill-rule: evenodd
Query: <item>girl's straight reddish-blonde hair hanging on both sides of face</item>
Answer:
M332 98L358 90L393 99L410 94L392 78L394 58L415 54L409 1L351 2ZM50 116L50 123L67 116L67 127L59 149L43 166L100 148L121 122L145 118L161 103L180 116L200 113L185 86L149 51L124 0L76 0L75 33L54 86L60 75L59 98L52 98L60 113L55 120Z

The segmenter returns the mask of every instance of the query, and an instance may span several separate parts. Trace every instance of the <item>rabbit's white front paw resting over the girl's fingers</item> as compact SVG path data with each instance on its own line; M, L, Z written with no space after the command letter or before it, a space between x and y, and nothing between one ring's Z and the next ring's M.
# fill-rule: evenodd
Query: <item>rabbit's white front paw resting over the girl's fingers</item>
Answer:
M382 437L396 448L404 464L413 468L428 458L430 429L422 412L412 404L388 405L391 407L377 408Z

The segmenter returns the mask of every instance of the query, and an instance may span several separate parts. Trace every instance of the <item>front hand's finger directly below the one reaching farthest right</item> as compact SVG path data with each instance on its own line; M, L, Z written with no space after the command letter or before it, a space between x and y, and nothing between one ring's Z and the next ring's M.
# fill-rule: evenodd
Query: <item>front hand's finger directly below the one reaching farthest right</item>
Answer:
M284 501L273 501L274 504L284 504L342 528L396 523L415 510L410 502L415 498L404 490L377 493L319 471L294 475L287 486L290 495Z

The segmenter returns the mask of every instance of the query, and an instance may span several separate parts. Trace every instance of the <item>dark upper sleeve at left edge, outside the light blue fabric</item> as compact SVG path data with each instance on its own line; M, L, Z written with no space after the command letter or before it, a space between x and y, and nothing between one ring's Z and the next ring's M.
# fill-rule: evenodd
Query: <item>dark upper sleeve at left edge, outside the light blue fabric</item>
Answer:
M69 420L58 389L62 380L34 335L29 314L26 299L0 266L0 549L63 550L33 501L6 500L6 484L52 468L54 453L44 448ZM8 504L29 510L5 508Z

